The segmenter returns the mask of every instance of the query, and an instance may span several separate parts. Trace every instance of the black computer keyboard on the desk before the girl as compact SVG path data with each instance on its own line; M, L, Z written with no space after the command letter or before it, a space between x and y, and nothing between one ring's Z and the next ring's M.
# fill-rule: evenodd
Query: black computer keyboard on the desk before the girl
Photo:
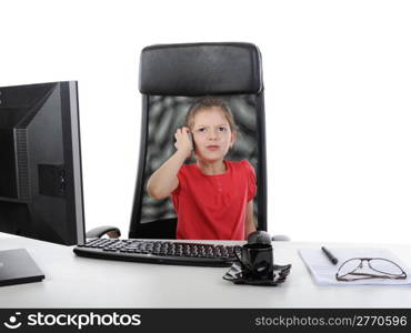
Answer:
M92 239L83 245L77 245L73 251L77 255L97 259L228 268L235 261L237 248L240 246L178 241Z

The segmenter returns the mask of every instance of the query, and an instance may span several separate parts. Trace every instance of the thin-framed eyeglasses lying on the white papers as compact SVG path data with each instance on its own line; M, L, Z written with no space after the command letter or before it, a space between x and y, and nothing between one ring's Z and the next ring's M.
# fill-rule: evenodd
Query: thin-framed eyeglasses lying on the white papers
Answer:
M368 266L364 264L367 263ZM335 273L338 281L367 279L407 279L407 273L397 263L383 258L352 258L344 261Z

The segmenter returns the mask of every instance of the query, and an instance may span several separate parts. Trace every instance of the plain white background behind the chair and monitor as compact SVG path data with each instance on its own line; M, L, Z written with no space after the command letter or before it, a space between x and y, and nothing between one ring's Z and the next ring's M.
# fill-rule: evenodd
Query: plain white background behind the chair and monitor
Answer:
M0 87L78 80L87 229L127 234L138 61L154 43L263 57L269 231L410 243L411 2L1 1Z

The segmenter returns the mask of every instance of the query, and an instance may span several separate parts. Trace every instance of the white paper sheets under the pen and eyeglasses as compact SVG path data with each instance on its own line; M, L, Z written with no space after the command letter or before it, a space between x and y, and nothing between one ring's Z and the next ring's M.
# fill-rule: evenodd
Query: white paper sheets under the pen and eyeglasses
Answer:
M371 285L411 285L411 271L390 251L383 249L368 249L368 248L328 248L330 252L339 260L334 265L321 251L321 249L300 249L299 254L309 269L311 275L318 284L322 285L355 285L355 284L371 284ZM400 265L407 273L407 279L370 279L359 281L338 281L335 273L339 266L351 258L383 258L393 261Z

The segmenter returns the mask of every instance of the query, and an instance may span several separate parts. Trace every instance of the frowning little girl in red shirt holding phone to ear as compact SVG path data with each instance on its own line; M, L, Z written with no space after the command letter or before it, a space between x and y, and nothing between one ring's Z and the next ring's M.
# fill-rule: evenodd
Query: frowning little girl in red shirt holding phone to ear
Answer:
M255 231L255 172L248 161L225 161L235 142L232 114L218 98L199 99L176 134L176 153L149 179L154 199L171 195L177 239L244 240ZM197 163L183 164L194 151Z

